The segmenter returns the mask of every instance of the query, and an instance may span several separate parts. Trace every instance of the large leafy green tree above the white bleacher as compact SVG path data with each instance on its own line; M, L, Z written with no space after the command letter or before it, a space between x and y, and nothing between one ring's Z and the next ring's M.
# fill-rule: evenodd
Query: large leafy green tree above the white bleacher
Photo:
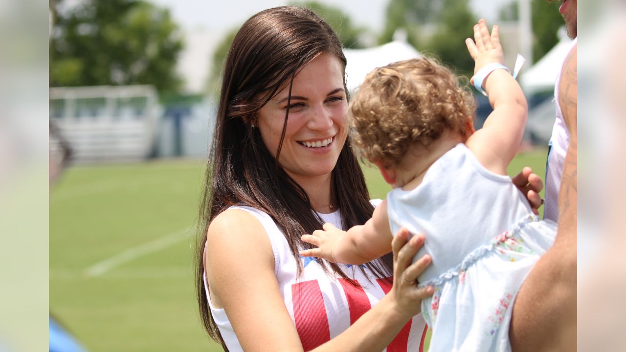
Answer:
M171 93L183 48L167 9L141 0L86 0L71 10L54 4L50 45L53 86L154 85Z

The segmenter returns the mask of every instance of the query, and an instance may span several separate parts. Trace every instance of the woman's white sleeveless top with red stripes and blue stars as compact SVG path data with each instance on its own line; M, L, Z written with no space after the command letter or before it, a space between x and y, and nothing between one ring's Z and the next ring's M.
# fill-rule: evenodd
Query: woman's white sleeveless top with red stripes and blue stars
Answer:
M377 203L372 202L374 205ZM377 280L369 271L366 271L367 276L364 275L356 266L340 264L347 276L359 282L361 287L354 287L345 279L328 277L314 258L299 258L304 269L296 279L295 258L274 220L265 212L251 207L233 206L230 209L240 209L254 215L267 232L274 252L274 273L279 282L280 294L294 321L304 351L316 348L341 334L391 289L390 284ZM332 214L319 215L325 222L342 227L339 210ZM211 314L228 350L243 351L224 309L215 308L211 304L207 287L205 277L205 291ZM418 314L404 326L386 351L422 352L425 338L426 323L421 314Z

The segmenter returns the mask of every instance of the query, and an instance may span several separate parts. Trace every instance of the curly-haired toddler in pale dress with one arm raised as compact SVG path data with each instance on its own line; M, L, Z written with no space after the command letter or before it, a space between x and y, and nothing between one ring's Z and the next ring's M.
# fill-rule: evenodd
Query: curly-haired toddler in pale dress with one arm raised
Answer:
M416 258L432 264L418 277L432 286L422 314L431 351L510 350L516 293L555 238L506 168L520 146L526 100L503 63L498 28L475 26L466 40L472 78L493 112L473 128L475 100L448 68L429 58L401 61L367 75L350 103L355 143L394 189L362 226L331 224L302 241L302 256L361 264L391 251L400 227L424 233Z

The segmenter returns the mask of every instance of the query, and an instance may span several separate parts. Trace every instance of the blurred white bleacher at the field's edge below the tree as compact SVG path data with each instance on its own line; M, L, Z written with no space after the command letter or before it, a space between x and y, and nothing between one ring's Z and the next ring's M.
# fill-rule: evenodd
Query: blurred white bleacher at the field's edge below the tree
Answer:
M148 85L50 88L50 119L78 163L145 160L154 147L159 109Z

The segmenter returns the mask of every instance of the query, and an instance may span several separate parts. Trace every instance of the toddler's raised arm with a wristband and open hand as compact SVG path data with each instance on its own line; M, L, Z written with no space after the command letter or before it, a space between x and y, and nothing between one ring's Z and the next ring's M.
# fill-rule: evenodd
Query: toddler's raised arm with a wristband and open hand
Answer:
M474 73L490 63L504 62L498 26L491 35L485 20L474 26L476 43L466 39L469 54L476 61ZM472 78L473 81L474 78ZM483 128L468 138L466 145L488 170L506 175L506 167L520 147L528 106L520 85L506 70L497 69L483 81L493 112Z

